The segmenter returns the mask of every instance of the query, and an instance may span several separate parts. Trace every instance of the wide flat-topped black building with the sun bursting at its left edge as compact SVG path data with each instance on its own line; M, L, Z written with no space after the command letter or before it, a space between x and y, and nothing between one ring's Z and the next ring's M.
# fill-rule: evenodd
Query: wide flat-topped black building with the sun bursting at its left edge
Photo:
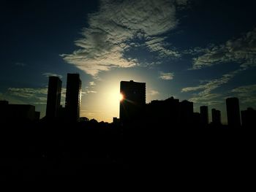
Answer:
M121 81L120 93L124 99L120 101L119 118L123 125L138 121L143 116L146 105L146 83Z

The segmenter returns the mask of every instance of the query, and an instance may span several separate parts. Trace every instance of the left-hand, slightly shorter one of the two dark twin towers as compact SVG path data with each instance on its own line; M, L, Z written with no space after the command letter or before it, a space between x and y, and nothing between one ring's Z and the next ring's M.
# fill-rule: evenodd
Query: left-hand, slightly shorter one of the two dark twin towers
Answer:
M61 80L59 77L49 77L48 96L46 106L46 118L59 117L59 109L61 104Z

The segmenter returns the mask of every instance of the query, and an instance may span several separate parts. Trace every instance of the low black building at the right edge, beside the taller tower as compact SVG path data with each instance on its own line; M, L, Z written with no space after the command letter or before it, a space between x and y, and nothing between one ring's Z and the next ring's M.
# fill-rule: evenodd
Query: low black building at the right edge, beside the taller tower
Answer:
M247 110L241 111L242 126L246 128L256 127L256 110L251 107Z

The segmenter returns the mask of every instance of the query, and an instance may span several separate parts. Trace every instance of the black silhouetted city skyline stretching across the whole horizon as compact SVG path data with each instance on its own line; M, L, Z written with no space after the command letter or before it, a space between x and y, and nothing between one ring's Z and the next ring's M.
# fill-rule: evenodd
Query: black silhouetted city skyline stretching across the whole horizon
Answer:
M1 121L8 122L12 118L20 122L65 122L84 123L89 118L80 117L81 85L79 74L67 74L66 102L60 105L61 80L59 77L50 76L48 82L47 113L39 120L40 112L29 104L9 104L9 101L0 100ZM215 108L211 109L212 120L209 122L208 106L200 106L200 112L194 111L192 101L180 101L177 98L165 100L153 100L146 103L146 83L121 81L120 82L120 106L119 118L113 117L113 125L121 127L146 126L151 122L159 128L170 126L171 128L250 128L254 125L255 112L252 107L240 110L239 99L230 97L226 99L227 125L222 124L221 112ZM94 119L91 119L95 121ZM95 121L97 122L97 120ZM104 123L103 121L101 123ZM108 124L108 123L107 123Z

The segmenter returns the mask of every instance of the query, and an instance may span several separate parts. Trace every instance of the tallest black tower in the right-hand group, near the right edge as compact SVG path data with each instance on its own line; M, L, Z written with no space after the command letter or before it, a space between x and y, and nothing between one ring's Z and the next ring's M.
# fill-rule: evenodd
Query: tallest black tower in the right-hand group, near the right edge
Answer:
M241 126L239 100L236 97L226 99L227 123L230 127Z

